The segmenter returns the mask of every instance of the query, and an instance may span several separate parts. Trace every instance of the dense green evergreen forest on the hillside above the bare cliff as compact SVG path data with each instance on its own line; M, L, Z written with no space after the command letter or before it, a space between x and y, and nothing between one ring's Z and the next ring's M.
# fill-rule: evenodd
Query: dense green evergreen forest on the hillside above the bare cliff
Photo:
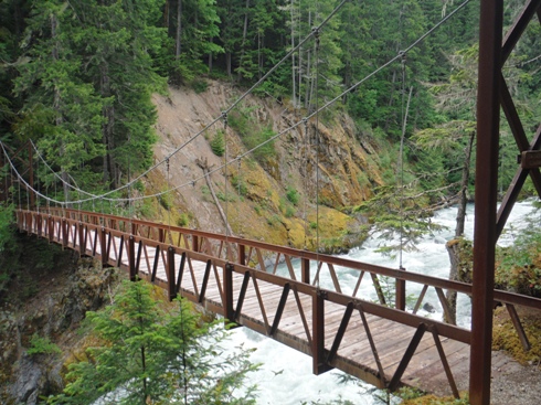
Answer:
M15 148L32 139L55 170L83 189L115 189L128 171L151 162L152 93L166 93L168 85L202 92L204 77L247 88L298 46L254 92L310 113L459 6L452 0L3 1L0 138ZM522 6L506 2L507 24ZM530 25L507 66L530 124L539 108L531 102L540 90L539 29ZM478 1L471 0L402 64L343 94L328 114L346 110L360 128L397 142L404 89L411 87L406 159L420 162L417 172L439 173L422 181L425 189L459 183L456 168L475 122L477 30ZM515 170L508 128L501 141L501 153L509 154L500 177L505 189ZM130 167L127 157L135 157ZM457 188L446 193L455 195Z

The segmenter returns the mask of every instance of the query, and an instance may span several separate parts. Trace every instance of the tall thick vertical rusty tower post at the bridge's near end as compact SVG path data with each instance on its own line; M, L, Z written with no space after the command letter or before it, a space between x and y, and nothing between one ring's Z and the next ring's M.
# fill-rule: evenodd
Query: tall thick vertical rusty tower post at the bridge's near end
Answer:
M503 1L481 0L469 399L490 404Z

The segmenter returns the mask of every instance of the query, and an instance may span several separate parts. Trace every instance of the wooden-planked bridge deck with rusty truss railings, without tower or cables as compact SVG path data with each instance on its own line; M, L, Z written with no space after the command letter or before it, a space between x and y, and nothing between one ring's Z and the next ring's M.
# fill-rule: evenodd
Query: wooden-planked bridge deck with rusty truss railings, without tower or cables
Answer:
M378 387L401 385L454 394L467 390L469 330L416 315L429 289L445 312L445 291L471 295L471 285L240 237L77 210L17 211L21 231L92 256L270 337L312 358L314 373L333 367ZM286 275L277 275L279 264ZM348 287L339 274L356 279ZM332 288L319 287L327 277ZM386 301L381 278L395 286ZM361 284L373 288L370 300ZM422 286L405 309L405 291ZM418 290L418 288L417 288ZM541 300L495 291L524 347L516 306Z

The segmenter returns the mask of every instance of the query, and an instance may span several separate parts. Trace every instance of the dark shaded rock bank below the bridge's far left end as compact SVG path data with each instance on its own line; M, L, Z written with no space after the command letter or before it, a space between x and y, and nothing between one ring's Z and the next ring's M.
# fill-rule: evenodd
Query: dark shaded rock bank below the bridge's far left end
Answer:
M33 405L62 390L63 366L82 339L79 322L103 306L118 274L43 239L17 239L15 249L0 256L11 269L0 296L0 404Z

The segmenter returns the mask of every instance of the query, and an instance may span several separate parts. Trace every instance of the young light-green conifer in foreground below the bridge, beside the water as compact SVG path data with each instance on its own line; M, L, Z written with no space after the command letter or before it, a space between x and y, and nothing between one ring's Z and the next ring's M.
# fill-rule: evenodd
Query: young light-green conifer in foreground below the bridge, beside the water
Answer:
M223 321L205 323L178 299L168 307L152 286L126 281L113 305L87 312L100 347L70 365L64 392L49 404L255 404L246 375L257 369L242 348L227 353Z

